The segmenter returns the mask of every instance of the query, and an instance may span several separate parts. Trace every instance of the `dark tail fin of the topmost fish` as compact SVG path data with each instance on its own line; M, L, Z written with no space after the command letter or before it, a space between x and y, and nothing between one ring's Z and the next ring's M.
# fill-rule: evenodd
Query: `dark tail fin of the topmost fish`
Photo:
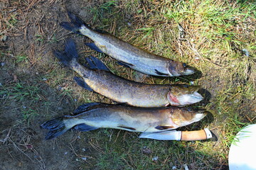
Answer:
M74 13L68 11L68 17L70 18L70 21L71 21L70 23L69 22L60 23L60 26L62 26L66 30L70 30L73 33L78 33L82 35L82 33L80 33L80 28L82 26L85 26L85 28L88 28L88 26L78 16L75 16Z

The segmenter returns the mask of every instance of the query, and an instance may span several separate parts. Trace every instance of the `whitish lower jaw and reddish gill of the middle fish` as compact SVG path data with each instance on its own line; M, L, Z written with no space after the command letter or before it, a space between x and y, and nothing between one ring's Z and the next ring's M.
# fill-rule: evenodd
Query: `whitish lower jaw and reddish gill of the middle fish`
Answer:
M177 96L171 94L170 91L167 98L171 106L186 106L203 100L203 96L197 91L193 92L193 94L181 94Z

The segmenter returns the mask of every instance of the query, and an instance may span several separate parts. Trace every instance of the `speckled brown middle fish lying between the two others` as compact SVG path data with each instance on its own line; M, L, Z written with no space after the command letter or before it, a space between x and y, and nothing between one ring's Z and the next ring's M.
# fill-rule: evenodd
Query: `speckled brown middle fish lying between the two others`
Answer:
M200 86L142 84L118 77L96 57L87 57L87 65L78 63L75 42L68 40L65 50L55 50L54 55L66 66L77 72L78 85L102 96L137 107L186 106L203 99L197 91Z

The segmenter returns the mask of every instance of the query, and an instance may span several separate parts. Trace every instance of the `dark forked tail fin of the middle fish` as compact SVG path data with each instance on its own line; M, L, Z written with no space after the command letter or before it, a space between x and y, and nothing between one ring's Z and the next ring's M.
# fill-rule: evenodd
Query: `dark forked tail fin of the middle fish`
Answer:
M78 59L78 51L75 48L75 42L71 39L65 42L65 50L63 52L55 50L53 51L53 54L60 60L60 62L68 67L71 67L70 64L72 62L77 62Z

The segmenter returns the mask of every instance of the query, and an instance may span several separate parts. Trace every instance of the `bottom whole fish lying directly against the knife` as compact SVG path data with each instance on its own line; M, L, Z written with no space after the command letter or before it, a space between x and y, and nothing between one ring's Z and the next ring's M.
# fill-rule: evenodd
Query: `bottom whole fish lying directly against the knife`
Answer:
M204 118L205 109L192 108L137 108L107 103L86 103L73 115L63 115L48 120L41 128L48 129L46 140L75 130L89 131L98 128L114 128L131 132L161 132L174 130Z

